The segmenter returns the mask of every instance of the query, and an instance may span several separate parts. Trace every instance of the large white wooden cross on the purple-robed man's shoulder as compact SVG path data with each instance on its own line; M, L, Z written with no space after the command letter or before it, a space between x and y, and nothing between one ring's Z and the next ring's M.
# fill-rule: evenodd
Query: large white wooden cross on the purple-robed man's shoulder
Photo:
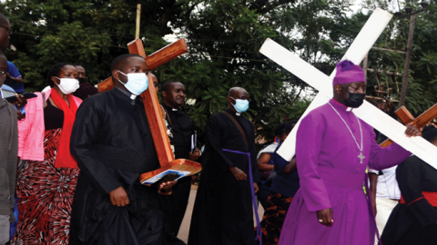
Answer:
M360 64L366 54L369 53L371 46L376 42L382 31L389 24L391 14L382 10L375 9L367 23L362 27L360 34L355 38L349 50L344 54L343 58L348 59L354 64ZM335 76L334 70L330 76L321 73L314 66L306 63L298 55L292 54L288 49L275 43L271 39L267 39L261 46L259 52L266 55L272 61L276 62L290 73L299 77L302 81L310 84L313 88L319 91L314 98L310 107L302 115L300 120L304 118L310 111L328 103L333 96L332 79ZM408 138L404 132L406 127L400 122L392 119L386 113L373 106L371 103L364 101L358 109L354 109L358 117L364 122L369 123L373 128L382 132L389 137L393 142L397 142L404 149L412 152L424 162L432 165L437 169L437 149L430 142L427 142L422 137ZM300 121L296 124L293 131L287 137L285 142L279 148L278 153L285 160L290 161L296 153L296 133L299 128Z

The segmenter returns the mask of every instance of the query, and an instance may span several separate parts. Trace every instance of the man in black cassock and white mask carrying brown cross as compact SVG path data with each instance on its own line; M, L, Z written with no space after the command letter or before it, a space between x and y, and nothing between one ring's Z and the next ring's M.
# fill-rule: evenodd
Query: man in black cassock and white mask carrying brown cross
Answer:
M158 189L139 175L158 169L143 102L147 64L137 54L111 64L114 89L79 107L70 149L81 169L73 201L70 244L161 245ZM130 84L129 84L130 83ZM168 189L175 181L161 184Z

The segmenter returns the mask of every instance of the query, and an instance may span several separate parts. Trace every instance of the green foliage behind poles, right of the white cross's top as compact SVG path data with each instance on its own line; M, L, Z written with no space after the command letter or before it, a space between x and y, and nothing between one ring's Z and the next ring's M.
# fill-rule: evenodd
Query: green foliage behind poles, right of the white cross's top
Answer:
M387 6L388 2L393 1L368 1L364 8L383 5ZM394 11L401 11L405 6L412 7L413 11L421 10L422 6L413 1L399 1L400 5L394 5ZM413 115L419 115L437 103L437 53L436 42L437 36L435 23L437 4L432 2L427 6L426 10L416 17L413 45L412 45L412 60L410 66L410 77L407 88L407 97L405 106ZM363 15L363 14L359 14ZM369 12L368 15L371 15ZM368 15L363 15L367 18ZM358 15L352 18L357 18ZM377 47L406 51L407 40L409 35L410 17L398 19L393 17L390 25L381 35ZM388 98L399 100L401 97L402 73L405 64L405 54L395 53L391 51L371 50L369 54L369 68L374 71L368 73L368 94L380 95L375 92L375 86L385 89L390 88ZM398 103L393 104L393 108L397 108Z

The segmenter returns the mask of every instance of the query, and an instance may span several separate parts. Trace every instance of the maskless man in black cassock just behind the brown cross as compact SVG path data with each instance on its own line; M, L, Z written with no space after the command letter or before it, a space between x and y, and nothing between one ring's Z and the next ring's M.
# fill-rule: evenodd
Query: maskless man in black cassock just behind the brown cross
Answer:
M194 134L194 122L187 113L179 110L185 103L185 86L179 82L167 82L161 87L162 108L168 123L168 138L175 159L198 161L200 151L191 153L191 136ZM164 223L168 232L178 236L182 220L187 210L191 178L182 178L173 188L173 193L159 197L164 212Z

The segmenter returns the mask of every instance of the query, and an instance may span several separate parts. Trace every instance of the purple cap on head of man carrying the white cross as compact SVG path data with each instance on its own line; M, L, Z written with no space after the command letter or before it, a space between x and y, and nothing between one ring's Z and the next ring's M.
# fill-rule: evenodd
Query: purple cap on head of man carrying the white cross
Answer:
M366 83L364 72L362 72L361 66L353 64L348 60L344 60L337 64L337 73L335 74L332 85L353 82Z

